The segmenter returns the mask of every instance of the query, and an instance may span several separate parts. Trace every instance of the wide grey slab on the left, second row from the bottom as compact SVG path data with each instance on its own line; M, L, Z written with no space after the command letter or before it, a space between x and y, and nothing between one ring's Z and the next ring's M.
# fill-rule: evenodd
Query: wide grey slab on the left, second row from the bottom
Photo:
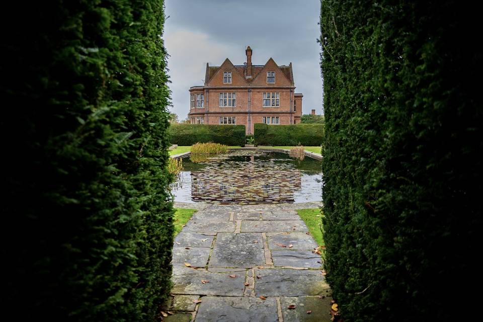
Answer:
M230 275L235 275L234 278ZM173 294L243 296L246 272L213 273L192 268L173 275ZM209 281L203 284L201 280Z

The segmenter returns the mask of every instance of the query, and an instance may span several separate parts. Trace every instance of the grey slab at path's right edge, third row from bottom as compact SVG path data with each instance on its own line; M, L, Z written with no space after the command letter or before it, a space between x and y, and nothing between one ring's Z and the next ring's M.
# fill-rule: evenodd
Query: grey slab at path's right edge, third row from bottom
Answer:
M307 268L320 268L322 266L320 255L306 250L282 249L272 251L274 266L294 266Z

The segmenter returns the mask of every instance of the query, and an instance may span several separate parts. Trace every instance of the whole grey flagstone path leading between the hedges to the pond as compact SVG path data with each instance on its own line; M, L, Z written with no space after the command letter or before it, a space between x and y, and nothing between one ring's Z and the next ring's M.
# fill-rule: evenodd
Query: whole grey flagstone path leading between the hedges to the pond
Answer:
M295 211L317 206L196 204L175 239L165 321L330 321L317 244Z

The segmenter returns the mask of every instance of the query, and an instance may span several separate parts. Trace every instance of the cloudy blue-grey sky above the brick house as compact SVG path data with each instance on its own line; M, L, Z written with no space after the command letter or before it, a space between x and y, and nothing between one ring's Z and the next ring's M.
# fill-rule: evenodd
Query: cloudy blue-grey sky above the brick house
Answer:
M165 46L172 84L172 112L184 120L190 110L189 88L203 85L206 63L219 66L229 58L264 65L292 62L295 92L303 93L303 114L322 112L319 0L165 0Z

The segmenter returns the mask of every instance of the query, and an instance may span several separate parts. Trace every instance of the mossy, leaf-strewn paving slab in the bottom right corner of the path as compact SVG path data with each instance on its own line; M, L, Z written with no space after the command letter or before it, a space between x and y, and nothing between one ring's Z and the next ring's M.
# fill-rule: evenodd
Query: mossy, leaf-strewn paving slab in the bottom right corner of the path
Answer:
M330 322L332 297L299 296L280 298L283 322ZM295 309L289 309L295 305ZM307 311L311 311L307 314Z

